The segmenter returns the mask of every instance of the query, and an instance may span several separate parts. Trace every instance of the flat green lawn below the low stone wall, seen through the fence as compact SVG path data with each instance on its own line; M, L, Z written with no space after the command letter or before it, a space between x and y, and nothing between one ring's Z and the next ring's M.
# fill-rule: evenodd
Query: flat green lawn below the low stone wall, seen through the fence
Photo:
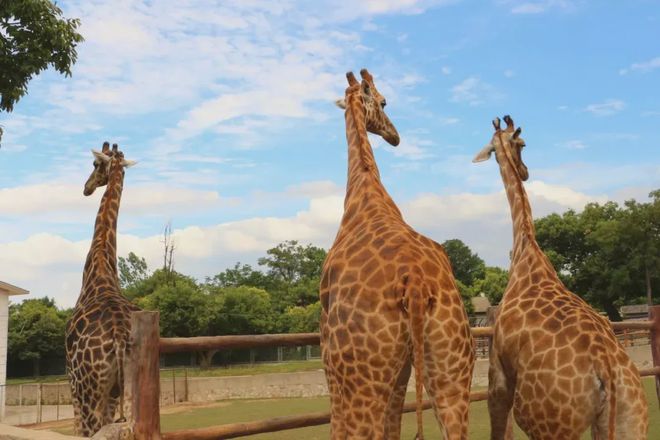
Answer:
M660 438L660 410L655 397L653 379L644 379L644 388L649 402L649 439ZM413 399L412 394L408 399ZM217 402L209 407L179 407L173 410L165 409L161 416L163 432L178 429L203 428L213 425L247 422L268 419L278 416L298 415L328 410L327 397L306 399L262 399L262 400L228 400ZM415 414L405 414L403 417L402 439L411 439L415 435ZM61 429L58 432L71 434L72 429ZM439 438L440 432L431 411L424 412L424 432L427 438ZM490 424L486 402L474 402L470 405L470 440L485 440L489 437ZM250 437L254 440L325 440L329 437L328 425L302 428L272 434L260 434ZM516 427L516 438L525 438ZM591 436L587 432L583 439Z

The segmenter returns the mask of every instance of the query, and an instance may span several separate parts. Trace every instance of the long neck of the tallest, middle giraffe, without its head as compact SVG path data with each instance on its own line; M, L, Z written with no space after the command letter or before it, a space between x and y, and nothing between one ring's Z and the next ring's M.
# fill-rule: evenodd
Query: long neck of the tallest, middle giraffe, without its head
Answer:
M344 199L342 224L358 214L349 209L357 203L360 210L378 204L384 212L401 218L399 208L380 181L380 173L369 143L366 125L366 110L359 94L346 97L346 139L348 141L348 183Z

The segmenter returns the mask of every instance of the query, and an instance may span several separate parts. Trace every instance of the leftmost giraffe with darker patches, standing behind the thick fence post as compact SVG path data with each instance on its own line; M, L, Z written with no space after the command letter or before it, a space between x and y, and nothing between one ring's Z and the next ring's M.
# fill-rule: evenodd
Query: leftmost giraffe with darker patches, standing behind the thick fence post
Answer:
M123 359L130 314L138 310L122 296L117 275L117 216L124 183L124 159L117 144L92 150L94 170L83 194L106 186L83 271L82 288L66 328L66 364L78 435L92 436L123 408Z

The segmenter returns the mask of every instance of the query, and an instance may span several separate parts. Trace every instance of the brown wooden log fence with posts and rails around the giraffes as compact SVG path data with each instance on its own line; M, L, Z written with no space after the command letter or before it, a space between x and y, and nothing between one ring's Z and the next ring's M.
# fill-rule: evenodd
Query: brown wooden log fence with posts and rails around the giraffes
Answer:
M256 422L233 423L209 428L160 432L160 369L161 353L183 351L223 350L229 348L256 348L266 346L317 345L318 333L204 336L197 338L159 337L158 312L134 312L131 317L131 350L125 366L126 402L130 405L130 422L136 440L215 440L244 437L265 432L324 425L330 422L330 413L313 413L300 416L277 417ZM640 370L641 376L655 376L656 392L660 402L660 306L649 308L649 320L613 322L619 331L650 332L653 367ZM475 337L492 337L492 327L473 327ZM486 400L486 391L473 391L471 401ZM424 409L431 402L424 402ZM404 412L415 411L415 403L404 406Z

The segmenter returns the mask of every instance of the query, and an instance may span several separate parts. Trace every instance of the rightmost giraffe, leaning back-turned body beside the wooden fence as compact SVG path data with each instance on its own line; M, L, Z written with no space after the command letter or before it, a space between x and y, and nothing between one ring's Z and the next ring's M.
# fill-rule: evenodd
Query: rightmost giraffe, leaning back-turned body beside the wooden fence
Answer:
M509 284L500 303L490 353L491 438L512 438L511 419L534 440L646 439L648 407L639 372L607 319L568 291L534 231L523 186L525 141L505 116L474 162L493 151L513 220Z

